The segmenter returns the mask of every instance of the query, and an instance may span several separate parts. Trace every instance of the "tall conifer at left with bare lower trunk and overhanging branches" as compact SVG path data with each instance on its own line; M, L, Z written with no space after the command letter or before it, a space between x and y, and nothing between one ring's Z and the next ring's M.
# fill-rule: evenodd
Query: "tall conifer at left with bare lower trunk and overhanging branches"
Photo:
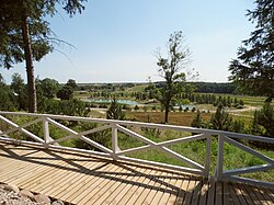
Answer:
M52 31L44 19L55 15L56 4L72 15L81 12L85 0L9 0L0 3L0 66L10 69L25 61L28 111L36 112L36 88L33 61L53 52Z

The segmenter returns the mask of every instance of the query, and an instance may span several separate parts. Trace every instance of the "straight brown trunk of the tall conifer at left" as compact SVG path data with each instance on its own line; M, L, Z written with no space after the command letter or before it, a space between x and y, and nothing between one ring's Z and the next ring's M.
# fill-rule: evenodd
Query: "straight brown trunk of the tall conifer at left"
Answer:
M23 9L22 13L22 34L24 41L24 55L25 55L26 76L27 76L28 112L36 113L37 102L36 102L33 59L32 59L32 45L31 45L30 29L25 9Z

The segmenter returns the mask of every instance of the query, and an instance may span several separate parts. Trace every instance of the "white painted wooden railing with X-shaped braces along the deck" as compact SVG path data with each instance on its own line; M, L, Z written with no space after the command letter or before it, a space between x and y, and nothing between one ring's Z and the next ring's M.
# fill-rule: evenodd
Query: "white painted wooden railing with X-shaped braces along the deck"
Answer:
M18 115L18 116L28 116L34 119L23 124L18 125L11 119L9 119L11 116ZM12 117L11 117L12 118ZM98 123L100 124L99 127L92 128L89 130L84 130L81 133L78 133L76 130L72 130L71 128L58 123L57 121L78 121L78 122L90 122L90 123ZM110 157L114 160L124 160L124 161L132 161L137 163L145 163L145 164L151 164L151 166L158 166L163 167L168 169L173 170L181 170L189 173L199 174L203 176L209 176L210 175L210 153L212 153L212 138L215 136L218 136L218 151L217 151L217 164L216 164L216 171L215 171L215 178L217 180L236 180L241 182L251 182L256 183L259 185L266 185L274 187L274 183L272 182L261 182L256 180L246 179L241 176L237 176L239 174L250 173L250 172L256 172L256 171L266 171L270 169L274 169L274 160L247 147L246 145L242 145L241 143L235 140L235 139L246 139L246 140L254 140L254 141L263 141L274 145L273 138L266 138L266 137L260 137L260 136L252 136L252 135L244 135L244 134L237 134L237 133L229 133L229 132L221 132L221 130L213 130L213 129L201 129L201 128L193 128L193 127L184 127L184 126L174 126L174 125L161 125L161 124L151 124L151 123L138 123L138 122L128 122L128 121L112 121L112 119L101 119L101 118L89 118L89 117L77 117L77 116L62 116L62 115L50 115L50 114L31 114L31 113L15 113L15 112L1 112L0 111L0 125L5 124L9 125L5 130L1 130L0 126L0 139L1 140L9 140L14 143L22 143L22 144L35 144L38 146L43 146L45 148L50 149L65 149L65 150L76 150L81 152L89 152L89 153L96 153L104 157ZM37 136L30 130L26 129L26 127L41 123L43 125L43 136ZM50 137L50 128L49 124L65 130L68 133L67 136L59 138L59 139L53 139ZM142 135L127 128L127 127L147 127L147 128L157 128L157 129L172 129L175 132L187 132L191 136L187 137L181 137L175 138L167 141L161 143L155 143ZM100 145L99 143L92 140L91 138L87 137L88 134L93 134L98 132L102 132L104 129L111 129L112 130L112 148L107 148L103 145ZM32 138L35 143L32 141L22 141L22 140L15 140L12 139L9 135L14 132L21 132L22 134L28 136ZM144 146L129 148L125 150L121 150L118 146L118 133L126 134L127 136L130 136L133 138L136 138L144 143ZM83 140L84 143L92 145L96 149L101 151L91 151L91 150L83 150L83 149L77 149L77 148L69 148L69 147L62 147L59 146L59 143L69 140L71 138L78 138ZM205 139L206 144L206 156L204 164L199 164L198 162L195 162L185 156L182 156L172 149L168 148L168 146L182 144L182 143L189 143L194 140ZM236 169L236 170L224 170L224 143L231 144L243 151L247 151L265 162L266 164L262 166L255 166L255 167L249 167L249 168L242 168L242 169ZM161 162L153 162L153 161L147 161L136 158L126 157L128 153L133 153L136 151L146 151L149 149L158 149L160 151L163 151L164 153L169 155L170 157L173 157L189 167L181 167L181 166L173 166L173 164L165 164Z

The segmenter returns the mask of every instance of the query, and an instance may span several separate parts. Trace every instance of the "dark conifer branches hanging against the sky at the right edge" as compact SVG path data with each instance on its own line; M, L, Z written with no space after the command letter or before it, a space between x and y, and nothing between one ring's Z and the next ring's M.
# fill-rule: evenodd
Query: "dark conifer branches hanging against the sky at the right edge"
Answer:
M238 57L230 64L230 80L243 91L274 98L274 1L255 0L256 8L248 11L255 31L242 42Z

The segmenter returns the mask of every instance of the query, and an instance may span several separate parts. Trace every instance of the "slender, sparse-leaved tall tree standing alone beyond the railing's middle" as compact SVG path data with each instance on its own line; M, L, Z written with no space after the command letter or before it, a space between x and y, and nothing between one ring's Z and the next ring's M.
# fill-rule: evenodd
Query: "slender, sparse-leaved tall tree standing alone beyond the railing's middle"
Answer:
M156 54L158 72L164 79L164 84L157 90L156 98L164 107L164 123L168 123L169 111L176 94L186 90L186 75L181 72L190 62L190 50L183 45L182 32L174 32L168 42L168 57L163 58L160 52Z

